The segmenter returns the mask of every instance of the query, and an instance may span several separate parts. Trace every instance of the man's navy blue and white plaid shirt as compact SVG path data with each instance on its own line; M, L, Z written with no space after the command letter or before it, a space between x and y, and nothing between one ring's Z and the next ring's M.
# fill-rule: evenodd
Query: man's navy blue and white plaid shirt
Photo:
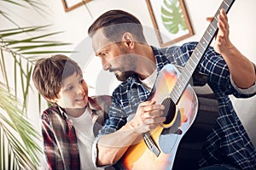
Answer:
M183 44L181 47L154 48L157 70L166 64L184 66L195 49L196 42ZM202 151L200 166L230 164L241 169L256 169L256 151L234 110L228 95L248 98L255 94L242 94L234 88L230 71L224 59L207 49L197 69L208 77L208 84L218 99L219 116L217 125L208 136ZM255 85L253 86L255 89ZM127 122L127 117L136 113L137 106L148 99L150 92L143 87L137 76L122 82L113 91L113 103L109 108L109 119L100 131L100 135L113 133Z

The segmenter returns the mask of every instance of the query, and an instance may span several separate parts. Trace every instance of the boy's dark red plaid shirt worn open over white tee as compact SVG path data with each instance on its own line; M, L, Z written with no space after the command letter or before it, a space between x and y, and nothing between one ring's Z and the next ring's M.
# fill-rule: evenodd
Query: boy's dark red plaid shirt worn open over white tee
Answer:
M96 116L94 134L102 127L106 119L109 96L88 98L91 116ZM85 129L84 129L85 130ZM79 145L75 128L67 117L67 113L57 105L51 105L42 115L42 134L44 139L45 169L74 170L80 169ZM93 141L91 139L90 141ZM84 160L86 161L86 160Z

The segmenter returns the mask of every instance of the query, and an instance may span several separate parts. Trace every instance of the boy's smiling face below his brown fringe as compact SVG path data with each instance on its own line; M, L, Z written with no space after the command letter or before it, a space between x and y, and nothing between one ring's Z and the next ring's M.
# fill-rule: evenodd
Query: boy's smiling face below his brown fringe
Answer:
M59 98L56 104L61 108L67 109L83 109L88 103L88 87L81 75L76 72L67 77L61 86Z

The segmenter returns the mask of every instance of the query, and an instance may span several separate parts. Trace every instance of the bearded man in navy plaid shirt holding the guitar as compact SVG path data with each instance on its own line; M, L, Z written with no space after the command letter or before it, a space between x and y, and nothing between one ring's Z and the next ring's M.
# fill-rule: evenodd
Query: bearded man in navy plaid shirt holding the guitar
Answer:
M96 140L96 165L105 166L119 161L142 133L166 121L162 116L165 106L156 105L154 99L148 100L157 74L168 64L186 65L197 43L170 48L149 46L140 21L122 10L102 14L88 33L96 56L102 59L103 69L112 71L122 81L113 91L109 119ZM246 98L256 94L255 68L230 42L223 9L218 14L215 41L214 49L208 48L197 66L198 71L207 75L207 83L219 106L216 126L202 150L200 167L255 169L256 151L228 97L233 94Z

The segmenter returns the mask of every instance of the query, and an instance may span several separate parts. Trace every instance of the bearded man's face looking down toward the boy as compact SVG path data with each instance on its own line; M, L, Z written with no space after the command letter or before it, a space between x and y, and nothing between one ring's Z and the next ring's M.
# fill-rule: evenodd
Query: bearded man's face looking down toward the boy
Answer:
M126 48L125 42L108 42L108 39L99 30L92 37L96 56L102 59L102 68L115 74L119 81L125 81L136 73L137 59Z

